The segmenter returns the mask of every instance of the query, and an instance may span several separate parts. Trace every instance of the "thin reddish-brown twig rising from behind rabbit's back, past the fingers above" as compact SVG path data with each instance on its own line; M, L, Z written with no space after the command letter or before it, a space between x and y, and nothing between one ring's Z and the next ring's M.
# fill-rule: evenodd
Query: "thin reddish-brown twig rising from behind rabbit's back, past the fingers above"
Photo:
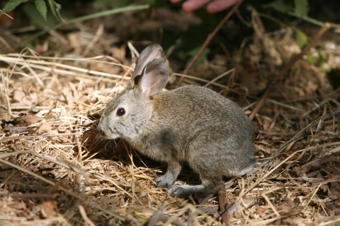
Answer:
M190 64L186 67L186 69L183 71L183 74L188 74L188 71L191 69L191 67L193 66L193 64L195 64L195 62L197 61L197 59L200 57L201 54L203 54L204 49L208 46L208 44L211 42L212 38L215 37L215 35L217 34L218 30L220 30L220 28L222 28L222 25L225 24L225 22L227 22L227 20L229 19L230 16L232 16L232 14L234 14L234 12L237 10L237 8L239 8L239 5L242 4L242 1L239 1L225 16L225 18L223 18L221 20L221 22L217 25L217 27L215 28L215 30L212 31L212 33L210 35L208 35L207 39L205 40L205 42L203 43L202 47L200 47L200 50L198 51L198 53L195 55L195 57L193 57L193 59L191 60ZM179 84L177 86L181 86L181 84L183 83L184 78L181 77L179 79Z

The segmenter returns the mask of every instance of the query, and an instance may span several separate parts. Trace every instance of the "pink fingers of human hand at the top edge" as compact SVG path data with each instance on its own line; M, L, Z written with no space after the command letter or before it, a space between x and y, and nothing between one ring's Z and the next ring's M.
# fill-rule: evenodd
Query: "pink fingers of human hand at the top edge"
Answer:
M170 0L172 3L178 3L182 0ZM186 0L182 4L183 11L191 12L196 9L207 5L206 10L208 13L217 13L225 10L226 8L237 4L240 0Z

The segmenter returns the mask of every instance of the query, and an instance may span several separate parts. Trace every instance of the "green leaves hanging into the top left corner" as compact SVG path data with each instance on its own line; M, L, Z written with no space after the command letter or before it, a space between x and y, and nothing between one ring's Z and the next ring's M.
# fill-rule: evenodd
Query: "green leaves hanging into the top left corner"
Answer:
M0 12L0 16L6 12L12 11L14 8L16 8L16 6L27 1L28 0L9 0L6 6ZM57 20L59 19L62 20L62 17L60 16L59 13L62 6L60 4L57 4L54 0L33 0L33 2L35 3L35 8L37 8L39 13L45 20L47 19L47 5L50 6L50 10L55 15Z

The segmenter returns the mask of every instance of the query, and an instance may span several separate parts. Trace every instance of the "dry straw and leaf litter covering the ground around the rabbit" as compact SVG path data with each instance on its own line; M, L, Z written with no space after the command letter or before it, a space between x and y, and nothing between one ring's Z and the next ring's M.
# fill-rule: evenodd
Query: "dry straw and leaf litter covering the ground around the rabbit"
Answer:
M60 46L64 42L73 48L66 57L57 57L58 49L52 57L30 49L0 56L0 225L145 225L148 221L221 225L218 196L171 197L152 181L166 165L139 155L123 141L98 136L101 112L125 88L135 59L125 57L129 55L125 47L111 47L108 52L113 57L98 56L108 47L104 40L112 44L115 37L108 38L101 26L89 30L93 33L53 37ZM253 174L225 182L231 225L340 223L339 110L309 126L340 107L339 88L329 82L336 77L327 73L339 65L338 42L339 37L330 32L319 49L310 50L317 61L322 49L324 65L312 65L307 57L297 61L256 114L256 157L259 163L270 161ZM43 46L37 48L43 52ZM214 71L223 74L220 79L205 77L208 81L203 82L202 76L200 80L186 76L183 83L220 91L249 114L271 76L298 52L290 28L263 32L254 44L233 55L233 73L224 73L227 69L220 62L228 57L219 55L190 74L200 76L203 71L206 76ZM98 57L85 58L88 54ZM172 86L179 77L171 76ZM306 127L306 136L270 158ZM198 177L186 168L179 182L197 184Z

